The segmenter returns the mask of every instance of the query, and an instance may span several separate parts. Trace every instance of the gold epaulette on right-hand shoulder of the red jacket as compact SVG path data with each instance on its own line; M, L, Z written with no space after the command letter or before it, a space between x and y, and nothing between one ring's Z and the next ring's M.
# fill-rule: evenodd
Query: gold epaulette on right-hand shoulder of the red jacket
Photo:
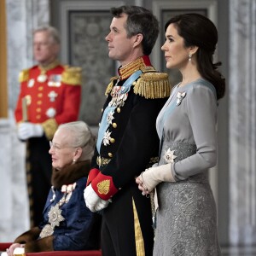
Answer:
M82 84L81 67L65 67L65 71L61 75L61 82L70 85Z

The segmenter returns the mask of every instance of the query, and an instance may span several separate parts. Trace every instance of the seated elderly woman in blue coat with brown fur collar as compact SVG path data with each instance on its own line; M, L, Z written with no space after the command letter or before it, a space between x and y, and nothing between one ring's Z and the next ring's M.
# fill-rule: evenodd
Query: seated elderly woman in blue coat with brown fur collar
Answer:
M84 204L84 187L94 148L95 137L84 122L58 127L49 148L52 187L43 220L38 227L15 239L7 250L8 255L20 251L16 247L22 247L25 253L99 248L101 217Z

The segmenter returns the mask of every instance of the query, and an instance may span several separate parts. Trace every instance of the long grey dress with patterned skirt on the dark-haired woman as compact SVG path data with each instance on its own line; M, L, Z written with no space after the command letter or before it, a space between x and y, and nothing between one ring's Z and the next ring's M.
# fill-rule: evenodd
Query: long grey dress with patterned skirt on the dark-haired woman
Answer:
M177 85L157 118L159 165L174 154L171 168L177 182L157 186L155 256L220 255L207 172L217 162L215 93L204 79Z

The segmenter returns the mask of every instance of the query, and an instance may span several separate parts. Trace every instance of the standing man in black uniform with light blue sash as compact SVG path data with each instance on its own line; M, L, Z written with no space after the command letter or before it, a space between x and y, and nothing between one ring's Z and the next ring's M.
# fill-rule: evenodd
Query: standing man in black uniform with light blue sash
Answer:
M159 33L154 15L137 6L111 13L108 55L121 66L106 90L84 201L102 213L102 255L152 255L150 199L137 189L135 177L157 160L155 121L170 84L148 57Z

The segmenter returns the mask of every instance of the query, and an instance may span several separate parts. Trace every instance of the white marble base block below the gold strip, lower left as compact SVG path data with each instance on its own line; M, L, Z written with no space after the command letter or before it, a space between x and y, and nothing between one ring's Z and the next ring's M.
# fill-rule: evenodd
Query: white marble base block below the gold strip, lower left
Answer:
M29 219L25 144L18 141L11 119L0 119L0 142L0 241L13 241L28 229Z

